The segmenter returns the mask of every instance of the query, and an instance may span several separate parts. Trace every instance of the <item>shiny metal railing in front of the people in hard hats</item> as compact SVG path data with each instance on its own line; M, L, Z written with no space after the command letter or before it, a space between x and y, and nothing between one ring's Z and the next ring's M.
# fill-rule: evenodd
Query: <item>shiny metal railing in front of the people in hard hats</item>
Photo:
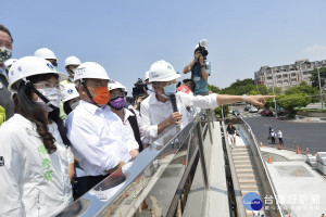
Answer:
M213 120L211 112L201 112L181 130L173 128L162 135L133 162L111 174L58 216L134 216L139 208L146 208L143 200L149 191L171 162L179 156L186 158L186 165L166 216L183 212L198 158L203 168L205 189L209 189L202 141L208 131L212 141L211 127L214 125L210 124Z

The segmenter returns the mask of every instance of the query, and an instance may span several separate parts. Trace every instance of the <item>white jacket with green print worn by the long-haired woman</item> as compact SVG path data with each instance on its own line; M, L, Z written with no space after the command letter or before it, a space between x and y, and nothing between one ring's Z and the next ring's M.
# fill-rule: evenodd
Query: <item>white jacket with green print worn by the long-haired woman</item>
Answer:
M58 127L48 154L36 125L15 114L0 127L0 216L54 216L73 202L66 149Z

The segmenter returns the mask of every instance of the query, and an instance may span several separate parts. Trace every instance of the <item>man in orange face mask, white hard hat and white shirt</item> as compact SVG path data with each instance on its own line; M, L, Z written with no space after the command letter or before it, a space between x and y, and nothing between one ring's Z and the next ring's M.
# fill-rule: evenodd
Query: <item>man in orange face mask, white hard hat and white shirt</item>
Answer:
M74 80L80 102L66 119L67 137L91 189L135 157L138 143L108 105L110 78L100 64L80 64Z

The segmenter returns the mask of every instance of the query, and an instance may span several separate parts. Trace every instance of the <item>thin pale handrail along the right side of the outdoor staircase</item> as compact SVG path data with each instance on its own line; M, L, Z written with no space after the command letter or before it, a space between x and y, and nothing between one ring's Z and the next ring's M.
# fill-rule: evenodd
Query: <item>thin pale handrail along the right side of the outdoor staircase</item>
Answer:
M244 123L244 126L246 126L246 128L247 128L247 129L246 129L247 132L250 133L250 136L252 137L252 139L253 139L253 141L254 141L254 148L255 148L255 151L256 151L258 154L259 154L259 159L260 159L259 162L260 162L261 165L263 166L263 171L265 171L265 177L267 178L269 189L271 189L271 191L272 191L272 193L273 193L273 197L275 199L275 204L276 204L276 206L277 206L276 210L277 210L277 213L278 213L280 216L284 216L283 209L281 209L281 207L280 207L280 205L279 205L279 201L278 201L278 196L277 196L277 192L276 192L274 182L273 182L273 180L272 180L272 178L271 178L271 174L269 174L269 171L268 171L268 169L267 169L267 166L266 166L266 164L265 164L265 161L263 159L261 150L260 150L260 148L259 148L259 145L258 145L259 143L258 143L258 141L256 141L256 138L255 138L255 136L253 135L252 129L251 129L251 127L248 125L248 123L247 123L242 117L240 117L240 119Z

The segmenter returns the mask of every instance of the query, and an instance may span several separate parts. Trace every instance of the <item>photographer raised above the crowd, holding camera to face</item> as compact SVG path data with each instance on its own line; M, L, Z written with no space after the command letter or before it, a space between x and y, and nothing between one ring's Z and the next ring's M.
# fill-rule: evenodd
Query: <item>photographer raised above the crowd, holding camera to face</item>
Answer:
M191 71L191 79L196 84L195 94L209 94L208 79L211 73L211 63L206 60L209 54L206 44L205 39L200 40L195 48L193 60L184 68L184 74Z

